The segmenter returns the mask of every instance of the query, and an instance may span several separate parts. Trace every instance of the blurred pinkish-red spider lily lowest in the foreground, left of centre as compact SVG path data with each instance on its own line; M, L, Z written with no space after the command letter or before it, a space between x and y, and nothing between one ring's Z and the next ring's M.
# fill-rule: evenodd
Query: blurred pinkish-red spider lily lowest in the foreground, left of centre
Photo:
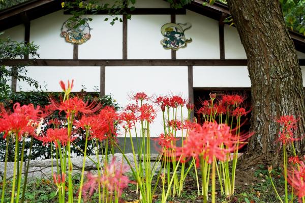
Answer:
M128 177L123 175L126 169L127 167L123 165L117 166L115 159L112 159L112 162L106 165L101 177L87 173L87 181L82 188L84 199L87 199L87 195L92 196L95 191L98 191L99 183L110 194L116 192L117 196L120 196L123 189L130 183Z

